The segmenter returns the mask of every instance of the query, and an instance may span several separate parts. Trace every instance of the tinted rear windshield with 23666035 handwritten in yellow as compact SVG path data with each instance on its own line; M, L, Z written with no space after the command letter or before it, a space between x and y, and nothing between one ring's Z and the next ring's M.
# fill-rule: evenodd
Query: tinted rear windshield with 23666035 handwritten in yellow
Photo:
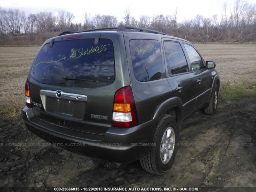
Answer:
M43 84L94 88L115 79L113 43L100 39L67 40L45 44L38 54L32 76Z

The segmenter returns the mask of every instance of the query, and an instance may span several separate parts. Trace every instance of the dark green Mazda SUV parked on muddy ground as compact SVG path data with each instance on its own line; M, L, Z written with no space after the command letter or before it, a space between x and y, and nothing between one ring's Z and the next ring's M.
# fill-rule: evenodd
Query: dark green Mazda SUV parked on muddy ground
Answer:
M38 51L24 122L45 140L153 174L173 161L182 120L218 108L219 75L194 46L128 26L64 32Z

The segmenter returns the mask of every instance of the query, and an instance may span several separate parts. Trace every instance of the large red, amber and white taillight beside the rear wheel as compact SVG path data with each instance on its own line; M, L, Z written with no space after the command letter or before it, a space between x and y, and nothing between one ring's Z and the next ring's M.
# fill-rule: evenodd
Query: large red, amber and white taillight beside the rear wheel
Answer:
M137 125L137 114L131 86L119 89L114 98L113 126L130 127Z

